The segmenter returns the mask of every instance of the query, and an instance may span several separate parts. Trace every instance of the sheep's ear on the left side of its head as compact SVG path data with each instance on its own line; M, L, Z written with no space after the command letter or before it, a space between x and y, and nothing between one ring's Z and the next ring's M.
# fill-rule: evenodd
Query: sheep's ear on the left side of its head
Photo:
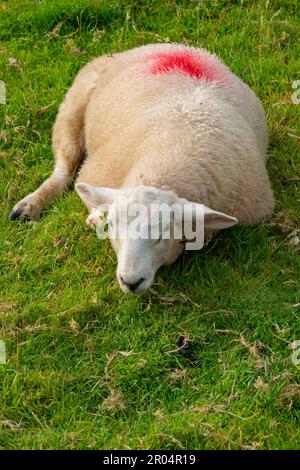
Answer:
M96 208L101 204L112 204L119 190L111 188L97 188L87 183L76 183L75 191L88 208Z

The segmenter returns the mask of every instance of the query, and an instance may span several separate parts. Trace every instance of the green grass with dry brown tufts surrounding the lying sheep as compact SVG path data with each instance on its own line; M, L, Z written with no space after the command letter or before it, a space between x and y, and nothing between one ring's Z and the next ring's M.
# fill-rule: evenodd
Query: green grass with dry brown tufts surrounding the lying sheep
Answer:
M296 6L1 3L0 448L299 447L300 367L289 348L300 339ZM51 172L51 128L80 67L169 40L216 52L262 100L276 210L162 269L152 292L126 296L74 191L38 223L8 213ZM176 351L181 335L196 364Z

